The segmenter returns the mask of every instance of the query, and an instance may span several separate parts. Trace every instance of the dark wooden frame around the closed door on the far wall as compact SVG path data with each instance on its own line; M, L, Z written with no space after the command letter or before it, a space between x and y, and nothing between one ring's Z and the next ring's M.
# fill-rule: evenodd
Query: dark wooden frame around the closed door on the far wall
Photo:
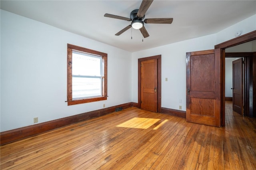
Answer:
M161 55L138 59L138 108L141 108L141 62L157 59L157 113L161 113Z

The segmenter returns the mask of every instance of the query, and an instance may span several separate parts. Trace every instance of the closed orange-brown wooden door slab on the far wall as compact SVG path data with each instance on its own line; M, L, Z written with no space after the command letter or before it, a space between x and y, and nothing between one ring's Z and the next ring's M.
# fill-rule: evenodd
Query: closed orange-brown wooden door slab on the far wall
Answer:
M141 109L157 112L157 59L141 61Z

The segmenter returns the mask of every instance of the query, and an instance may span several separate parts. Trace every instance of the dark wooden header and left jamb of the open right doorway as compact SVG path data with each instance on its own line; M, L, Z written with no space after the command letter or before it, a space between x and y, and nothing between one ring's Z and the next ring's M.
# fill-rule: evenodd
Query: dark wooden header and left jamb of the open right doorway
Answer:
M223 43L219 43L214 46L214 49L223 49L223 57L220 59L220 65L221 65L221 73L222 73L222 79L221 79L221 112L222 112L222 126L225 126L225 49L229 47L233 47L235 45L239 45L242 43L250 42L252 40L256 40L256 30L249 32L247 34L244 34L242 36L239 36L237 38L233 38L231 40L228 40Z

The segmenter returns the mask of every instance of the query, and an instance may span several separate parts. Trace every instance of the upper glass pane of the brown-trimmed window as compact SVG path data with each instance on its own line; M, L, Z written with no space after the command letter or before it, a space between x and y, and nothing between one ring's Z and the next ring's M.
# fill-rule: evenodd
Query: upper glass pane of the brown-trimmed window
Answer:
M102 57L72 53L72 75L102 76Z

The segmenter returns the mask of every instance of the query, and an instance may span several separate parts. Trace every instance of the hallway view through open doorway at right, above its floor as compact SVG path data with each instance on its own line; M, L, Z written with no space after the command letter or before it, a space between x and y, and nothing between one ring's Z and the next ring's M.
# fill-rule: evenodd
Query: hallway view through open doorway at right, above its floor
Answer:
M247 117L256 117L256 107L254 106L256 85L253 82L256 77L255 51L256 40L227 48L225 53L225 100L231 92L233 111ZM231 65L232 77L230 82L228 77L230 77ZM235 65L240 65L240 68L234 67Z

